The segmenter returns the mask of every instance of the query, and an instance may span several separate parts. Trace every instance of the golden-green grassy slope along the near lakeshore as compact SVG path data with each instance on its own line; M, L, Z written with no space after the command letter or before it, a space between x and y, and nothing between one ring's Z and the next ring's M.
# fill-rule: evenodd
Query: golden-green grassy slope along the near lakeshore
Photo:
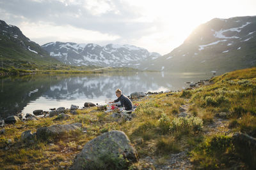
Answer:
M166 164L170 153L188 150L195 168L246 169L230 144L233 132L242 131L256 137L256 68L234 71L212 78L211 85L193 90L144 97L138 103L136 117L131 122L116 121L96 108L78 110L68 120L42 118L38 121L7 125L0 138L0 166L9 169L58 169L72 164L80 146L106 131L120 130L129 136L136 147L140 161L133 167L151 167ZM187 104L192 118L177 118L179 107ZM218 119L218 113L227 113L227 119ZM212 124L220 120L220 127ZM61 139L36 141L32 145L20 142L24 131L52 124L81 122L86 133L77 131ZM212 131L214 130L214 131ZM225 132L229 132L225 135ZM12 143L8 143L12 139ZM4 148L8 147L8 150ZM153 165L143 162L154 157Z

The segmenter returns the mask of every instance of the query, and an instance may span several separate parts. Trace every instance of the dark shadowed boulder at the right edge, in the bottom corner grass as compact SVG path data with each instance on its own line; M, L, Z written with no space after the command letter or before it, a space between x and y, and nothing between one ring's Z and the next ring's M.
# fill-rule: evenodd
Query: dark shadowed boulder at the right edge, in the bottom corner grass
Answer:
M256 139L248 134L236 132L232 136L232 143L236 152L247 162L250 167L256 167Z

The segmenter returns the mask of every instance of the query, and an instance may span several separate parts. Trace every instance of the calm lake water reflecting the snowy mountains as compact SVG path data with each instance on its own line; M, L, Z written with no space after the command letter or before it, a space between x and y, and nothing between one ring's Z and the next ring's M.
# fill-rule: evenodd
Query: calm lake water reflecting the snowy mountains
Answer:
M129 96L132 92L182 90L187 81L211 78L212 74L186 73L115 73L29 75L0 78L0 117L16 113L49 111L71 104L83 107L84 102L106 104L116 99L115 90Z

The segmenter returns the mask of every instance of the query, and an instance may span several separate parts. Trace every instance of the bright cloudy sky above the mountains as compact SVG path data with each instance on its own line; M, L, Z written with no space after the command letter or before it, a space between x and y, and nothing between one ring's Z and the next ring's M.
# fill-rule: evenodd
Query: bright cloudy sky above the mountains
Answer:
M198 25L255 9L255 0L0 0L0 20L39 45L129 44L164 55Z

